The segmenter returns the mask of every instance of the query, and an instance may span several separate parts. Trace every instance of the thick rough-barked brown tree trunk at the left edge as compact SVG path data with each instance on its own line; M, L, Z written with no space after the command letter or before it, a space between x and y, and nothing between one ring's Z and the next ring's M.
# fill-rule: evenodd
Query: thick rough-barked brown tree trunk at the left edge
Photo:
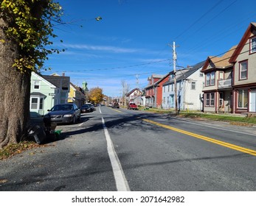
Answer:
M0 149L18 143L26 135L30 123L30 76L12 67L18 47L7 40L7 26L0 18Z

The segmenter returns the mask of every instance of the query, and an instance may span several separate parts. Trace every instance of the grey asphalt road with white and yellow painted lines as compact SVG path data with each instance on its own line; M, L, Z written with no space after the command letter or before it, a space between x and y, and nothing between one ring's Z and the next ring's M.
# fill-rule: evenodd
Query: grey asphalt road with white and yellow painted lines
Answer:
M96 107L0 161L0 191L256 191L256 128Z

